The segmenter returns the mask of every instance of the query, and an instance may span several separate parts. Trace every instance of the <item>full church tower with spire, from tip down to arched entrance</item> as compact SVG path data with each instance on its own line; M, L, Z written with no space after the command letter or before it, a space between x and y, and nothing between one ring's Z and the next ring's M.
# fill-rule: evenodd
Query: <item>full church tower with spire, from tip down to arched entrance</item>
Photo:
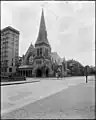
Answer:
M47 31L45 26L45 19L44 19L44 11L42 9L41 14L41 20L40 20L40 26L39 26L39 33L38 37L35 43L35 57L34 57L34 64L35 68L39 71L38 74L40 76L40 71L42 71L42 68L46 66L48 68L47 74L50 74L51 71L51 46L49 44L49 41L47 39ZM45 70L46 71L46 70ZM37 72L36 72L37 73Z

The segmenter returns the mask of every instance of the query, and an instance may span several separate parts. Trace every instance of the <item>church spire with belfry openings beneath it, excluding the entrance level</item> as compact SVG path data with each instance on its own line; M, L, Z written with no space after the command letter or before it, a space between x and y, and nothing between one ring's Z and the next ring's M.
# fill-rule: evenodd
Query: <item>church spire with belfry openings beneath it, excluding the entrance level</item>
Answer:
M45 26L43 9L42 9L42 15L40 21L39 34L37 37L37 41L35 43L35 50L36 50L35 59L38 58L38 59L50 60L51 47L47 39L47 31Z

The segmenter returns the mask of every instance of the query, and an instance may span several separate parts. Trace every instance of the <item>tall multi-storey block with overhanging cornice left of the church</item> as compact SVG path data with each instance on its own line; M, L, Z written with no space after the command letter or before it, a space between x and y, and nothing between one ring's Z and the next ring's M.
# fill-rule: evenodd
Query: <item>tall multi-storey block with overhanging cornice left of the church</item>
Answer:
M16 72L19 56L19 31L8 26L1 30L1 73Z

